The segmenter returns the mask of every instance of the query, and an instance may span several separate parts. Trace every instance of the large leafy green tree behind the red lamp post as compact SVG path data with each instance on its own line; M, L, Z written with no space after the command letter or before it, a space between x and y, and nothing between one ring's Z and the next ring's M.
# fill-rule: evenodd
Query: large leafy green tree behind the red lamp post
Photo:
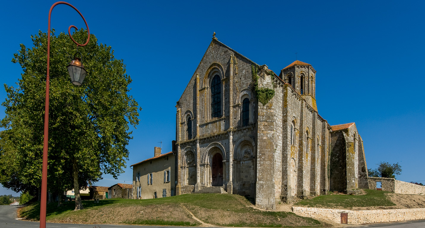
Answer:
M85 43L87 31L76 31L73 37ZM7 99L2 104L6 117L1 127L6 130L0 166L6 166L0 168L0 181L21 190L39 187L42 171L47 34L40 31L31 38L32 48L21 44L14 54L12 62L20 64L23 74L16 87L5 85ZM81 86L71 84L66 68L77 50L88 71ZM111 46L98 44L95 35L78 49L67 34L56 36L52 29L50 51L48 190L74 188L79 210L79 189L102 174L117 178L123 173L130 125L139 123L138 104L127 94L131 78L123 60L115 59Z

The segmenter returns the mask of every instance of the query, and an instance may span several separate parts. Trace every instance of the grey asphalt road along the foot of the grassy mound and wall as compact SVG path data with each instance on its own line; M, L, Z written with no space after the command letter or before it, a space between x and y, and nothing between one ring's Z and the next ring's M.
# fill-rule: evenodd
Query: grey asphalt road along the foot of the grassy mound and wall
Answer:
M31 228L39 227L39 222L23 221L16 219L16 210L19 206L0 205L0 228ZM30 227L28 227L30 226ZM46 224L46 228L94 228L94 224L69 224L69 223L50 223ZM140 228L140 225L98 225L101 228ZM161 228L159 226L142 226L143 228ZM425 228L425 220L415 220L409 222L387 222L374 223L371 225L348 225L347 227L385 227L385 228ZM166 228L174 228L167 226ZM181 228L175 226L175 228ZM197 227L193 227L197 228ZM339 227L341 228L341 227Z

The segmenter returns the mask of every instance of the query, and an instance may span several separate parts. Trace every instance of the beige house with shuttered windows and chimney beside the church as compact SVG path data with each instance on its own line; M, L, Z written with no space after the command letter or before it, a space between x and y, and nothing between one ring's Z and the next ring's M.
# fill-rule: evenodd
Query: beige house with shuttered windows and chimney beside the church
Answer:
M175 195L175 165L173 152L161 154L155 147L154 157L131 165L133 167L133 199L152 199Z

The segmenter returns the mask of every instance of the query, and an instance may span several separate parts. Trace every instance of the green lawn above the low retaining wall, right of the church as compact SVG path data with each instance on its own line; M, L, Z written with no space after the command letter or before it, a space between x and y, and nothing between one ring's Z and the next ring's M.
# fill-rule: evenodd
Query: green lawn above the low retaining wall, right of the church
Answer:
M393 202L385 194L386 191L376 191L364 189L365 195L326 195L306 199L295 203L295 206L306 206L315 208L343 208L351 209L353 207L374 207L374 206L395 206Z

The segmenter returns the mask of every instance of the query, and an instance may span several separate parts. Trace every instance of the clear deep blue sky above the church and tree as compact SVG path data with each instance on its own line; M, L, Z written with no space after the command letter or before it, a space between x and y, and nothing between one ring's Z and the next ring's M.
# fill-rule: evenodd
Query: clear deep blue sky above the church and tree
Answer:
M54 1L6 1L0 9L1 84L22 72L11 63L19 44L47 31ZM422 1L71 1L100 43L115 50L143 108L125 174L95 185L131 183L129 165L171 151L176 101L216 32L218 40L275 72L295 60L316 69L319 114L329 124L355 122L368 168L399 162L403 181L425 183L424 28ZM59 5L52 28L85 27ZM71 42L71 40L70 40ZM0 89L0 100L6 98ZM0 118L4 117L0 107ZM1 194L17 195L0 186Z

